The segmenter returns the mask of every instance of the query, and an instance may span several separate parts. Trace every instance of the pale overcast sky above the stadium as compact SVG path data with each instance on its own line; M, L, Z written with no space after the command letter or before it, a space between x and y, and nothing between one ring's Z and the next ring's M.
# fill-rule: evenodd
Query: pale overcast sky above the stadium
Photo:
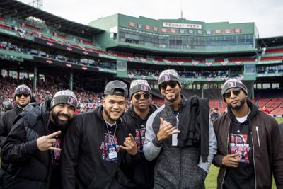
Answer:
M28 4L34 0L20 0ZM88 24L93 20L123 13L154 19L177 19L206 23L254 22L260 38L283 35L282 0L42 0L42 9L70 21Z

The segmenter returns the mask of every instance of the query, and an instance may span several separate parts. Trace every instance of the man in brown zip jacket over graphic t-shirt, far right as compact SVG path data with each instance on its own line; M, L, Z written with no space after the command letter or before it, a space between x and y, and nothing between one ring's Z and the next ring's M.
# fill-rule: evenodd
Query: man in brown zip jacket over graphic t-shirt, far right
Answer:
M217 188L283 188L283 137L277 121L247 99L247 87L237 79L225 82L221 94L228 113L215 120L220 167Z

